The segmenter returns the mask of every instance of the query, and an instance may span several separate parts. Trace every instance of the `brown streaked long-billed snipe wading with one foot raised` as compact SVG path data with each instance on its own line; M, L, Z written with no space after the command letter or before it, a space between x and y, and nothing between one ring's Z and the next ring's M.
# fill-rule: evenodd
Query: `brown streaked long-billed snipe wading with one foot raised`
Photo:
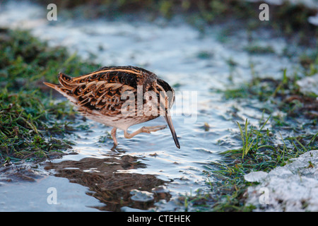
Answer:
M167 126L143 126L133 133L127 132L130 126L163 115L175 145L180 148L170 116L175 90L151 71L135 66L103 67L76 78L59 73L59 83L45 85L67 97L85 117L112 126L115 146L117 129L124 131L125 138L165 129Z

